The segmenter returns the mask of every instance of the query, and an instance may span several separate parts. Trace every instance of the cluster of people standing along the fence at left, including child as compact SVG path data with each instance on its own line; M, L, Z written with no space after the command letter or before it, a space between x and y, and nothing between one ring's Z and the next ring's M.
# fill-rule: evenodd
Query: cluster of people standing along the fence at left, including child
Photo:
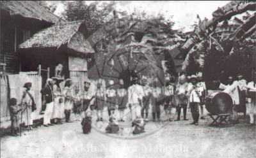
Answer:
M62 124L61 119L70 120L70 111L73 108L74 102L77 101L73 96L71 88L72 80L69 78L65 82L63 92L60 89L60 83L63 82L62 78L52 77L46 80L45 87L41 93L45 96L46 109L44 113L44 126L49 127L53 124ZM20 129L19 125L25 123L25 127L33 130L33 111L36 110L36 103L33 95L31 94L31 82L26 82L22 92L22 99L18 101L16 98L10 99L10 113L12 119L12 135L17 136ZM53 120L53 124L51 123Z

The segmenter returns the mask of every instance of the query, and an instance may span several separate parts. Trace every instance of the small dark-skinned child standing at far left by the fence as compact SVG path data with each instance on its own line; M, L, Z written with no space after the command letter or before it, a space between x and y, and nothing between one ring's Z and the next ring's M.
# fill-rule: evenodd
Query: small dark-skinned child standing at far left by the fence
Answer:
M21 111L22 108L17 105L17 99L12 98L10 99L10 113L11 113L11 119L12 119L12 136L19 136L19 111Z

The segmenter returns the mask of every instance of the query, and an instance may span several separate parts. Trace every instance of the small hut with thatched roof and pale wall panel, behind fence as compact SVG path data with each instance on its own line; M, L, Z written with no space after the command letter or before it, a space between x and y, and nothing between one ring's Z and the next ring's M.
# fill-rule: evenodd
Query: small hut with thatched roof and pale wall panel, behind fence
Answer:
M87 58L95 53L91 41L84 22L58 22L19 45L21 71L36 71L40 64L54 76L54 68L62 64L65 78L72 77L71 71L86 75Z

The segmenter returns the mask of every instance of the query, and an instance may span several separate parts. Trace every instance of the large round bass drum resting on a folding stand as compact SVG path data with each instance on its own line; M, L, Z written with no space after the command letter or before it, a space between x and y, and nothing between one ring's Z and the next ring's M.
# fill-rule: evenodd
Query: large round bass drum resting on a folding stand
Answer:
M212 92L206 97L205 108L213 115L225 114L232 108L232 97L225 92Z

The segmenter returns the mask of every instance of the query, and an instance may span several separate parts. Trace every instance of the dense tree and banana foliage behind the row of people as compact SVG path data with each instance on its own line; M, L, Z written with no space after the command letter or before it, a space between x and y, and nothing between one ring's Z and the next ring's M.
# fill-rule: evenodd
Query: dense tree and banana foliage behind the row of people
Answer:
M217 80L221 71L230 75L242 73L246 78L250 76L248 74L252 68L248 63L252 60L253 44L230 41L229 35L225 34L227 30L224 29L229 27L228 21L224 18L222 32L215 32L216 25L208 25L212 20L205 18L200 24L193 25L195 31L184 36L182 31L173 29L175 23L172 17L167 19L161 14L147 16L145 11L136 8L129 14L126 11L116 11L113 1L96 1L91 4L84 1L63 1L63 4L66 7L63 16L68 21L83 20L88 27L95 52L104 52L94 56L94 64L103 65L101 62L106 61L108 64L116 52L125 53L131 68L140 70L150 64L159 67L161 60L167 60L168 73L173 74L175 65L170 54L174 48L179 48L179 58L185 59L188 75L203 71L206 80ZM227 16L230 15L223 15ZM248 17L250 15L243 19ZM153 64L150 63L152 59ZM111 69L113 70L110 66L110 75L113 73ZM143 71L143 75L149 75L149 72ZM112 75L115 76L115 73Z

